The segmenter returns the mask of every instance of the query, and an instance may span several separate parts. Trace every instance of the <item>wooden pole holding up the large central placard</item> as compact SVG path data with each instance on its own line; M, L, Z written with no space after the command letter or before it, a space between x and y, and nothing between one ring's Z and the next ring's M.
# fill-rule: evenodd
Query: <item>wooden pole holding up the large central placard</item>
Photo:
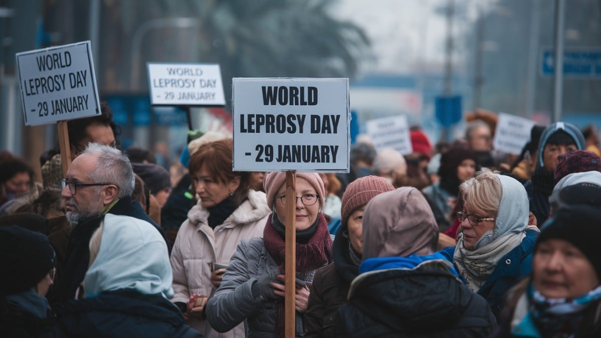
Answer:
M286 171L285 337L296 334L296 171Z

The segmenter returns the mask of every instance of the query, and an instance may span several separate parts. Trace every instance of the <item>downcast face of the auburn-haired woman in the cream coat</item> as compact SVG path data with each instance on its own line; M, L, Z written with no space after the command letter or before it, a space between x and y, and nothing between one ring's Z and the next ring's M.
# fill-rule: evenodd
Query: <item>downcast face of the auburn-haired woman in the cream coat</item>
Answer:
M203 164L200 170L192 174L192 183L201 204L204 207L213 207L225 200L230 192L236 191L240 185L240 177L236 177L230 182L221 182L215 175L209 173L206 165Z

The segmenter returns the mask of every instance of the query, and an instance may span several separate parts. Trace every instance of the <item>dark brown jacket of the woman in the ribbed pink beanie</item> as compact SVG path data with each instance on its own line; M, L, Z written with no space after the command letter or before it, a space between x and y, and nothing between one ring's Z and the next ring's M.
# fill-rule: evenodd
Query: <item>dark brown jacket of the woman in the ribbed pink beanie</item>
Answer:
M346 303L350 283L359 274L349 253L349 239L339 229L332 245L334 263L317 269L311 285L305 337L333 337L338 308Z

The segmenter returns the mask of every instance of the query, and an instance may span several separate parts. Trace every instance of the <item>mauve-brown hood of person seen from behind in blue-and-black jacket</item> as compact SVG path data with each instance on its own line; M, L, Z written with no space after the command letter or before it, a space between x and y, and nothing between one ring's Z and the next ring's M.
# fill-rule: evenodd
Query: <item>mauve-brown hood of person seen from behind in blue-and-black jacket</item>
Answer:
M438 224L418 189L403 186L379 194L367 203L363 216L363 260L423 256L433 253L437 242Z

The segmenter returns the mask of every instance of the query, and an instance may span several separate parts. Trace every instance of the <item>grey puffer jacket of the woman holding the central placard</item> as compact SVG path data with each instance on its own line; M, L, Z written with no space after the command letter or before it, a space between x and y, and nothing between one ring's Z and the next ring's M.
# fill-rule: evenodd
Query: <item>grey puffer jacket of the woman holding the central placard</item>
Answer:
M262 238L243 239L231 257L221 286L207 303L207 320L226 332L247 319L247 337L274 337L276 302L252 296L252 284L278 265ZM304 336L303 316L296 313L296 337Z

